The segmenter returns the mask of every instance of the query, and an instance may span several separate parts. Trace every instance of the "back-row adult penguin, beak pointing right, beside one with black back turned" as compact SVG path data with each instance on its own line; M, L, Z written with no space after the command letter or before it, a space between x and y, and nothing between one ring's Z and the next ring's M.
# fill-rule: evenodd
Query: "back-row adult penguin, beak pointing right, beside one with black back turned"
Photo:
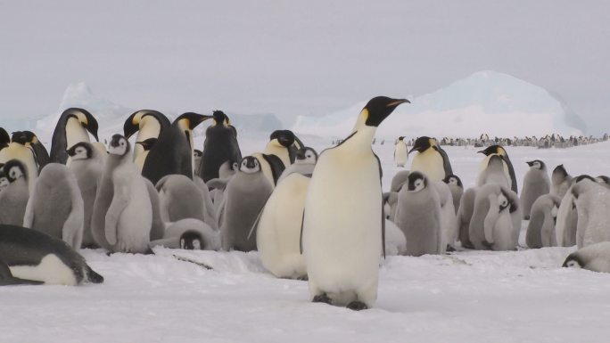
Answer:
M161 177L181 174L193 179L193 129L211 116L194 112L181 114L161 132L148 153L142 175L157 184Z

